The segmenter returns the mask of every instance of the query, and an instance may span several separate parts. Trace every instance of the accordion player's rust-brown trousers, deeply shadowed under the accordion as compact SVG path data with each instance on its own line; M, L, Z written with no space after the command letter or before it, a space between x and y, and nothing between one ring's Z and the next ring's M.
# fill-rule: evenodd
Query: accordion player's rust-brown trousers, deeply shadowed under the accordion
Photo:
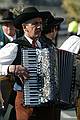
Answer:
M45 103L34 108L24 107L21 91L17 91L15 110L16 120L60 120L60 109L54 103Z

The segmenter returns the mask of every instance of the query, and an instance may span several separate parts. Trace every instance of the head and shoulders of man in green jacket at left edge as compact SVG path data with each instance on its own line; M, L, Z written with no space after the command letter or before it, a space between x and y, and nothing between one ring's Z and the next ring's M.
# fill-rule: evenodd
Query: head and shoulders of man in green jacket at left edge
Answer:
M22 36L21 32L15 28L15 16L10 10L6 10L0 20L0 48L16 38Z

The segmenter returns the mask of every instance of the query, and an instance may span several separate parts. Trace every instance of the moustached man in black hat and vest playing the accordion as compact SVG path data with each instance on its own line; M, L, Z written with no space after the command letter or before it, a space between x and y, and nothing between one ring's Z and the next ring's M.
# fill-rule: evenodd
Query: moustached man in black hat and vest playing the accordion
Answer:
M3 65L2 69L5 66L4 63L7 63L7 65L13 64L14 66L21 65L21 48L33 48L33 47L42 48L41 43L38 40L39 37L41 36L42 18L44 18L44 16L45 16L45 12L39 12L35 7L25 8L23 12L19 16L17 16L15 20L16 25L19 24L22 25L24 36L19 38L18 40L15 40L14 42L16 44L10 43L7 44L5 48L2 48L2 51L4 50L8 51L8 53L6 53L5 51L4 52L5 54L4 55L2 54L0 57L0 63ZM33 43L35 43L35 45ZM0 51L0 53L2 52ZM3 58L6 59L4 59L3 61ZM11 66L9 67L9 72L14 73L15 69L16 66L13 68ZM19 74L19 72L17 73ZM21 73L18 76L22 77ZM53 106L51 103L46 103L46 104L44 103L41 107L34 107L34 108L25 108L22 105L22 100L23 100L22 82L19 81L15 83L14 90L17 90L17 96L15 101L17 120L55 119L55 114L54 114L55 110L53 110Z

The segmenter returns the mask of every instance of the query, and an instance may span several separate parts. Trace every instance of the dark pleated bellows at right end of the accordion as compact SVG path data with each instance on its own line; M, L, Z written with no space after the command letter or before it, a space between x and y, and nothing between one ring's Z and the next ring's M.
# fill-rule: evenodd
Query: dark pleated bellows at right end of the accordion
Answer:
M64 50L58 50L58 75L60 81L60 101L74 104L76 79L76 55Z

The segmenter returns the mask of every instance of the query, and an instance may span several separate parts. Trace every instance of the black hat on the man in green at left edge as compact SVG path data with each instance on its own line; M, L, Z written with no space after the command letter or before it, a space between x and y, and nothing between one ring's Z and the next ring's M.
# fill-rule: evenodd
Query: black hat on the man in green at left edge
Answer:
M0 24L3 23L13 23L14 22L14 15L11 11L7 10L3 13L2 19L0 20Z

